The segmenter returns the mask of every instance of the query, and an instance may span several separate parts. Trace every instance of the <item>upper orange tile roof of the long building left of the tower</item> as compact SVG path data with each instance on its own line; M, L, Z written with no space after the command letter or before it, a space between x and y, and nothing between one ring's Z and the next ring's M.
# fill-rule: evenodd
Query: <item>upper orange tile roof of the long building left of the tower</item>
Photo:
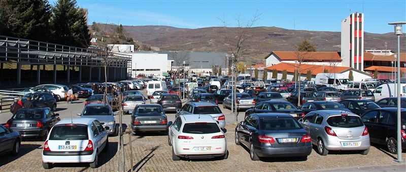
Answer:
M297 60L299 55L303 57L304 61L342 61L339 52L273 51L265 59L272 54L278 56L282 61Z

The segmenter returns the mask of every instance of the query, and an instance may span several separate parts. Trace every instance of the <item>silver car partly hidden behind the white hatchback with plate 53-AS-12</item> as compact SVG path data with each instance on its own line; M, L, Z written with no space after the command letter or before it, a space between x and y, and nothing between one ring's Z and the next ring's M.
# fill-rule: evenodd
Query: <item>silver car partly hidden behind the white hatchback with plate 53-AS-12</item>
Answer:
M118 125L114 116L117 112L113 112L113 108L106 104L88 104L83 108L82 113L77 113L81 118L95 118L103 125L109 127L106 129L110 135L118 135Z

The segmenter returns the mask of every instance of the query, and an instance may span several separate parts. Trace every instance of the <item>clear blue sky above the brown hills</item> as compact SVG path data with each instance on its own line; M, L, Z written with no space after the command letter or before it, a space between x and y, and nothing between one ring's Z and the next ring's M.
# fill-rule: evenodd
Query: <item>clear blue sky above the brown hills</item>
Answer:
M53 4L55 1L50 1ZM364 31L393 32L390 22L406 21L406 1L113 1L77 0L89 10L88 21L122 25L168 25L179 28L236 27L240 16L248 21L257 12L254 26L276 26L311 31L340 31L351 13L364 13ZM403 25L403 32L406 25Z

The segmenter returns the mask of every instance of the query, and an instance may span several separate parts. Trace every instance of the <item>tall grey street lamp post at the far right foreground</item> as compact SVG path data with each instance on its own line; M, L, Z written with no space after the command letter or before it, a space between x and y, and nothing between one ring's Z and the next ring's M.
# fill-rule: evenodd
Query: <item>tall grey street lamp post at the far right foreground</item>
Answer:
M402 24L406 22L393 22L388 23L389 25L394 25L395 35L397 36L397 162L404 162L402 160L402 138L401 138L401 121L400 121L400 35L402 35Z

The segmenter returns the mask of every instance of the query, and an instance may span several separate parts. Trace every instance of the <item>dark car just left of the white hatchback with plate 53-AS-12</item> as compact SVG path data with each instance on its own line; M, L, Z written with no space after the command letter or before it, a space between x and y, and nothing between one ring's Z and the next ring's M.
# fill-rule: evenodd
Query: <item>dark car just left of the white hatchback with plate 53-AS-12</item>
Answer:
M22 137L40 137L45 141L58 121L59 114L50 108L21 108L7 121L6 128L19 131Z

